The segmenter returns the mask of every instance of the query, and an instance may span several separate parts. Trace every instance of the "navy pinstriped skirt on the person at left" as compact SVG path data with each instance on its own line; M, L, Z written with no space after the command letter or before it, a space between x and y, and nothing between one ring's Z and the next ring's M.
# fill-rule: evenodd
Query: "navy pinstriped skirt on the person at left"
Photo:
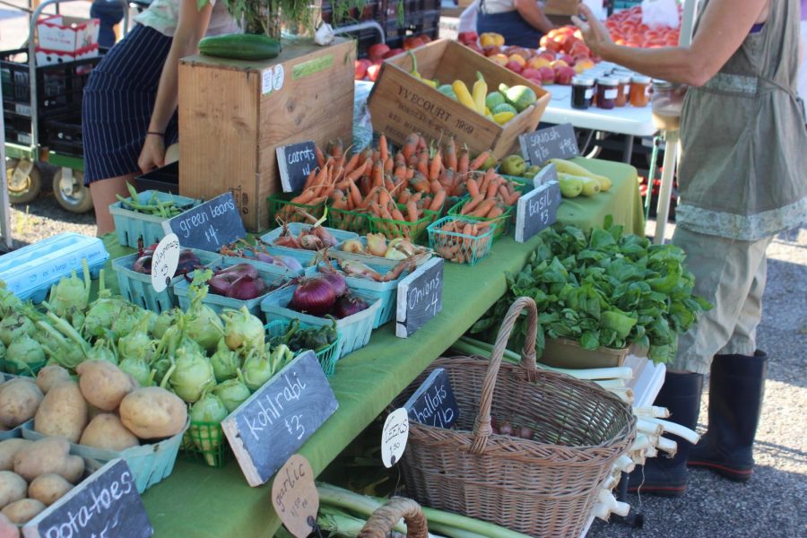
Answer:
M92 69L82 100L84 182L139 171L137 159L152 118L171 38L137 25ZM178 137L177 114L166 145Z

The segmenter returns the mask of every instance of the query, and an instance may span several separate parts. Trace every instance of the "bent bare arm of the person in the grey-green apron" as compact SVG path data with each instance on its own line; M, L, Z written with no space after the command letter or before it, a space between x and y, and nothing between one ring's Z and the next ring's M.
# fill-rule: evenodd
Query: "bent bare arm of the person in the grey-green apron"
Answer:
M768 6L769 0L712 0L701 15L698 32L689 47L631 48L615 45L602 22L581 4L572 17L596 55L633 71L669 82L702 86L720 71L742 45L751 26Z

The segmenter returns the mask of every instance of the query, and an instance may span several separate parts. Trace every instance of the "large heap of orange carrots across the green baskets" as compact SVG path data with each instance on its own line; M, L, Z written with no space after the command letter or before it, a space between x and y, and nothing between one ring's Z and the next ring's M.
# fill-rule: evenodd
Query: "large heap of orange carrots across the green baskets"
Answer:
M421 134L406 137L403 147L390 150L381 134L377 148L348 157L341 141L317 148L318 169L308 175L294 204L321 204L332 209L375 215L389 221L419 221L424 211L438 212L449 196L472 195L474 216L496 213L499 204L511 205L517 193L509 181L493 169L480 168L489 152L471 159L466 146L457 148L453 138L429 145ZM501 188L499 188L501 187ZM477 195L485 197L477 201ZM482 209L487 211L482 213ZM499 213L500 214L500 213Z

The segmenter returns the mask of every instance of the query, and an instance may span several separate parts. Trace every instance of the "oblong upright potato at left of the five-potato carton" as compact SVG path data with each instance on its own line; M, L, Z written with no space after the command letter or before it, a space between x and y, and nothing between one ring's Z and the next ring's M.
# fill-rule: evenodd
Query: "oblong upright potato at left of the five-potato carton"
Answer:
M87 402L75 381L50 387L34 416L34 430L77 443L87 425Z

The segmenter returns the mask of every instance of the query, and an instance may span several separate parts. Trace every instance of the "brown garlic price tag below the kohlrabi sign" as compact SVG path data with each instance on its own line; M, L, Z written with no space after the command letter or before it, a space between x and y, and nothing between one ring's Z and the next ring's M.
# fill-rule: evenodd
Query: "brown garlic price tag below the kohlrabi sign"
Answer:
M297 538L306 538L314 530L319 495L314 470L305 457L295 454L280 468L272 484L272 506Z

